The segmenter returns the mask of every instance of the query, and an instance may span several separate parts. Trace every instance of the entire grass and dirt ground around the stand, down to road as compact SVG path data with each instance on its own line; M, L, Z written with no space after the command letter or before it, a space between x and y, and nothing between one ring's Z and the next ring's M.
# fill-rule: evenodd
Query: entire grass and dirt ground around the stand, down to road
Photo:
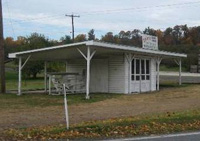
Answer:
M6 79L8 89L17 89L16 72L7 72ZM23 79L22 88L41 89L43 83L42 78ZM62 122L63 96L0 95L0 140L104 139L200 130L200 85L170 82L146 94L67 97L74 122L70 130Z

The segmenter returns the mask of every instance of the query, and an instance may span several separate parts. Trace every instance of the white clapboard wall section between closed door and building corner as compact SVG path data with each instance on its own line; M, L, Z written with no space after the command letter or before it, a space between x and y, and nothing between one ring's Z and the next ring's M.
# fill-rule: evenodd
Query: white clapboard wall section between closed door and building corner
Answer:
M125 62L124 55L113 55L109 57L109 92L125 93Z

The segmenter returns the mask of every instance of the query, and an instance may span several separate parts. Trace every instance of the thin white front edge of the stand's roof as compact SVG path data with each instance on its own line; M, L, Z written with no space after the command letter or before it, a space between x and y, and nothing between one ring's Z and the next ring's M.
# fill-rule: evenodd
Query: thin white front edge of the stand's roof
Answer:
M140 54L149 54L149 55L158 55L158 56L187 57L186 54L175 53L175 52L150 50L150 49L144 49L144 48L139 48L139 47L135 47L135 46L125 46L125 45L111 44L111 43L106 43L106 42L85 41L85 42L80 42L80 43L72 43L72 44L66 44L66 45L60 45L60 46L53 46L53 47L46 47L46 48L41 48L41 49L34 49L34 50L10 53L9 58L18 58L20 56L27 56L27 55L40 53L40 52L41 53L42 52L44 53L47 51L53 52L53 51L59 50L59 49L75 48L75 47L82 47L82 46L91 46L94 48L119 50L119 51L124 51L124 52L133 52L133 53L137 52Z

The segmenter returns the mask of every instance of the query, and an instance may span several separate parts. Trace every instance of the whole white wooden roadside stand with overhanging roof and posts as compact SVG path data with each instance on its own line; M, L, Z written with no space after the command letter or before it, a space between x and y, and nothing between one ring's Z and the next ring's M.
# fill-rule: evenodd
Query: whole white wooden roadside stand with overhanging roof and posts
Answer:
M134 94L159 90L159 67L162 59L173 59L179 65L179 84L181 84L181 58L187 55L86 41L11 53L9 57L19 59L19 95L21 72L27 61L46 62L45 74L48 62L65 61L67 72L86 76L86 98L89 99L90 92ZM45 77L45 85L46 81Z

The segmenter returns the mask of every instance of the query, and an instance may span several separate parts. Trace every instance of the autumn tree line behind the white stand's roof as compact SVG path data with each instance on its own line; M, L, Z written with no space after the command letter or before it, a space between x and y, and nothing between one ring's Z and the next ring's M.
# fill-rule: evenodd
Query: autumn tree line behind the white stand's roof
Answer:
M157 36L160 50L188 54L188 58L183 60L183 67L186 69L189 70L190 65L196 65L198 63L198 54L200 49L200 26L188 27L187 25L176 25L173 28L169 27L164 31L148 27L143 31L134 29L133 31L120 31L118 34L108 32L100 38L95 37L95 30L92 29L87 33L87 35L77 35L74 41L82 42L87 40L96 40L141 47L141 34ZM51 47L55 45L69 44L72 42L73 41L69 35L61 37L60 40L51 40L45 35L39 33L32 33L26 37L19 36L16 40L12 37L4 39L5 51L7 55L11 52ZM164 60L163 64L169 67L175 66L173 61L168 60ZM51 69L54 70L55 68L59 68L55 66L56 64L52 65ZM26 65L24 71L28 77L36 77L42 69L43 62L34 62Z

